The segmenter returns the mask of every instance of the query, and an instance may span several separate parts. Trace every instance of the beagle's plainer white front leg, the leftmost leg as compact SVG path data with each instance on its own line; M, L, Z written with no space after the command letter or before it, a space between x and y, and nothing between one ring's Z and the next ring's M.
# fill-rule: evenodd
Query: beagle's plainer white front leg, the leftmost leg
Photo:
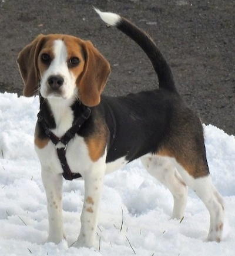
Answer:
M61 174L52 173L49 168L42 168L42 182L48 204L48 242L59 244L65 238L62 216L63 178Z

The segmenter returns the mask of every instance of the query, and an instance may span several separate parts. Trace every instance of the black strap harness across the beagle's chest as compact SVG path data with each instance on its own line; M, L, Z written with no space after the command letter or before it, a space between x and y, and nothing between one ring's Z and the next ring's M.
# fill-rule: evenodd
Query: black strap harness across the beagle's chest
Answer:
M82 124L89 118L90 116L90 109L89 107L84 107L80 115L76 118L73 126L61 137L57 137L52 131L49 129L48 123L46 123L44 117L42 116L41 111L38 113L38 122L41 123L42 129L44 130L46 136L51 139L52 143L55 145L58 145L58 143L62 143L62 147L57 148L57 155L61 162L61 167L63 169L63 178L66 180L73 180L82 177L80 173L72 173L68 162L66 160L66 148L71 139L75 136L75 134L78 132Z

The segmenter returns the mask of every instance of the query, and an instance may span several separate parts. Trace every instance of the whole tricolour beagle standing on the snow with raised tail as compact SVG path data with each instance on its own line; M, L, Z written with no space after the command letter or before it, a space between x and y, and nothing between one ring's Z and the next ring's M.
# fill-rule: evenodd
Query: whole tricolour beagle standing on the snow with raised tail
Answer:
M48 202L48 242L65 239L63 176L85 180L80 234L73 245L93 247L104 175L137 158L172 193L172 218L184 215L187 186L196 192L210 214L207 240L219 242L223 199L210 178L199 117L177 93L170 67L149 35L120 15L96 12L145 51L159 88L101 96L108 61L90 41L70 35L38 35L19 52L24 96L40 94L34 142Z

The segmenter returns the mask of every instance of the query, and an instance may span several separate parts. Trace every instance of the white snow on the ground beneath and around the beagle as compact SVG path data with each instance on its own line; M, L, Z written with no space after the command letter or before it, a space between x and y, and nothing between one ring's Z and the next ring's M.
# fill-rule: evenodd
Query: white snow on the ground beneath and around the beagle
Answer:
M224 197L223 240L205 242L209 213L189 191L182 222L170 219L173 198L139 160L105 176L97 246L75 248L80 228L83 181L65 181L63 215L67 240L46 243L48 215L39 160L33 149L38 97L0 94L1 255L234 255L235 138L204 125L207 160Z

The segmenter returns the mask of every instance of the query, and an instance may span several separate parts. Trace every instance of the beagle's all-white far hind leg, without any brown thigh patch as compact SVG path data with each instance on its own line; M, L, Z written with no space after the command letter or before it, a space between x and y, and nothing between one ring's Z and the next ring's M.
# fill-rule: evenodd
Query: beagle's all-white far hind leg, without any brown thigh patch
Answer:
M162 182L172 193L174 199L172 218L182 219L187 204L187 185L169 157L147 155L141 157L141 161L150 175Z

